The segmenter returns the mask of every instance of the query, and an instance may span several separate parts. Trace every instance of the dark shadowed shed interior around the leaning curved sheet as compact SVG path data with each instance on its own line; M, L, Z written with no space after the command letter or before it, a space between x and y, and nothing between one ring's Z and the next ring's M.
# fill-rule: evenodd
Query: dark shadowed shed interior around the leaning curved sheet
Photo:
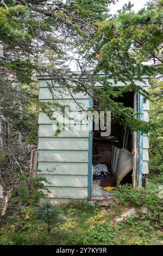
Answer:
M134 108L134 93L124 93L123 96L118 97L116 101L122 102L125 107ZM116 149L125 148L130 153L133 150L133 135L128 127L124 129L121 120L121 117L111 117L111 133L108 137L102 137L101 131L95 131L95 128L93 127L92 164L93 166L96 166L97 164L105 164L108 168L107 175L101 173L101 175L98 176L93 173L93 182L98 182L99 186L115 187L116 185L115 174L112 169L112 162L115 157L115 153L113 153L114 146ZM124 183L132 183L132 170L130 170L130 172L122 179L121 184ZM94 192L96 193L96 191Z

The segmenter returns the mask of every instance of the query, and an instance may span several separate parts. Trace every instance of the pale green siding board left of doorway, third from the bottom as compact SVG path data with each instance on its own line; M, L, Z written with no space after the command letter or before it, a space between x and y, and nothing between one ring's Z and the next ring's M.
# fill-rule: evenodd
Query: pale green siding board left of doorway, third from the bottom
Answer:
M58 162L39 162L38 169L42 174L60 175L87 175L87 163L58 163Z

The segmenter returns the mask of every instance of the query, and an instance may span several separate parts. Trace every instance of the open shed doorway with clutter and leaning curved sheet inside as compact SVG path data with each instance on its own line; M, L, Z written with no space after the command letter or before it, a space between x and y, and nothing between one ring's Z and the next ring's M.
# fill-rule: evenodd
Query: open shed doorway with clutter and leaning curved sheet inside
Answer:
M116 101L134 108L134 93L124 93ZM101 131L96 131L93 125L92 197L104 197L120 184L132 184L133 134L128 127L124 129L121 120L121 117L111 117L108 137L102 137Z

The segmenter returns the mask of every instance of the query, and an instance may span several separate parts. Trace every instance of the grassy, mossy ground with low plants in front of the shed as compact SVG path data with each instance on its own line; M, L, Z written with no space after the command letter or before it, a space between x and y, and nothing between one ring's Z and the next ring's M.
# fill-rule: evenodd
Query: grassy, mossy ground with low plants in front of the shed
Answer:
M147 188L120 186L117 200L101 206L87 201L26 207L5 217L2 245L163 245L163 176Z

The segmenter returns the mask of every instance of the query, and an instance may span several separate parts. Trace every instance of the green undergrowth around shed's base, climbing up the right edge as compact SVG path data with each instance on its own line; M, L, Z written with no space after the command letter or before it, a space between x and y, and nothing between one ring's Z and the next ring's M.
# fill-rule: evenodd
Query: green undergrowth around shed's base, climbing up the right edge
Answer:
M155 93L155 83L151 84L153 84L151 90ZM159 91L159 95L161 92ZM157 95L158 93L156 97ZM110 204L106 208L99 204L94 205L87 200L73 200L66 205L39 206L39 199L45 197L41 191L42 181L46 181L46 178L19 175L19 185L12 189L7 212L2 221L0 220L0 244L162 244L163 173L162 130L160 129L162 121L160 112L157 112L158 109L160 111L162 103L155 99L155 96L153 99L157 102L157 107L155 107L156 103L151 102L150 117L155 120L157 115L157 122L155 131L150 135L150 174L147 187L138 189L128 184L120 186L116 190L117 203ZM2 156L3 163L5 157ZM17 173L20 174L20 172ZM7 175L4 173L4 176ZM11 180L13 180L12 176ZM133 214L117 221L130 209L134 209Z

